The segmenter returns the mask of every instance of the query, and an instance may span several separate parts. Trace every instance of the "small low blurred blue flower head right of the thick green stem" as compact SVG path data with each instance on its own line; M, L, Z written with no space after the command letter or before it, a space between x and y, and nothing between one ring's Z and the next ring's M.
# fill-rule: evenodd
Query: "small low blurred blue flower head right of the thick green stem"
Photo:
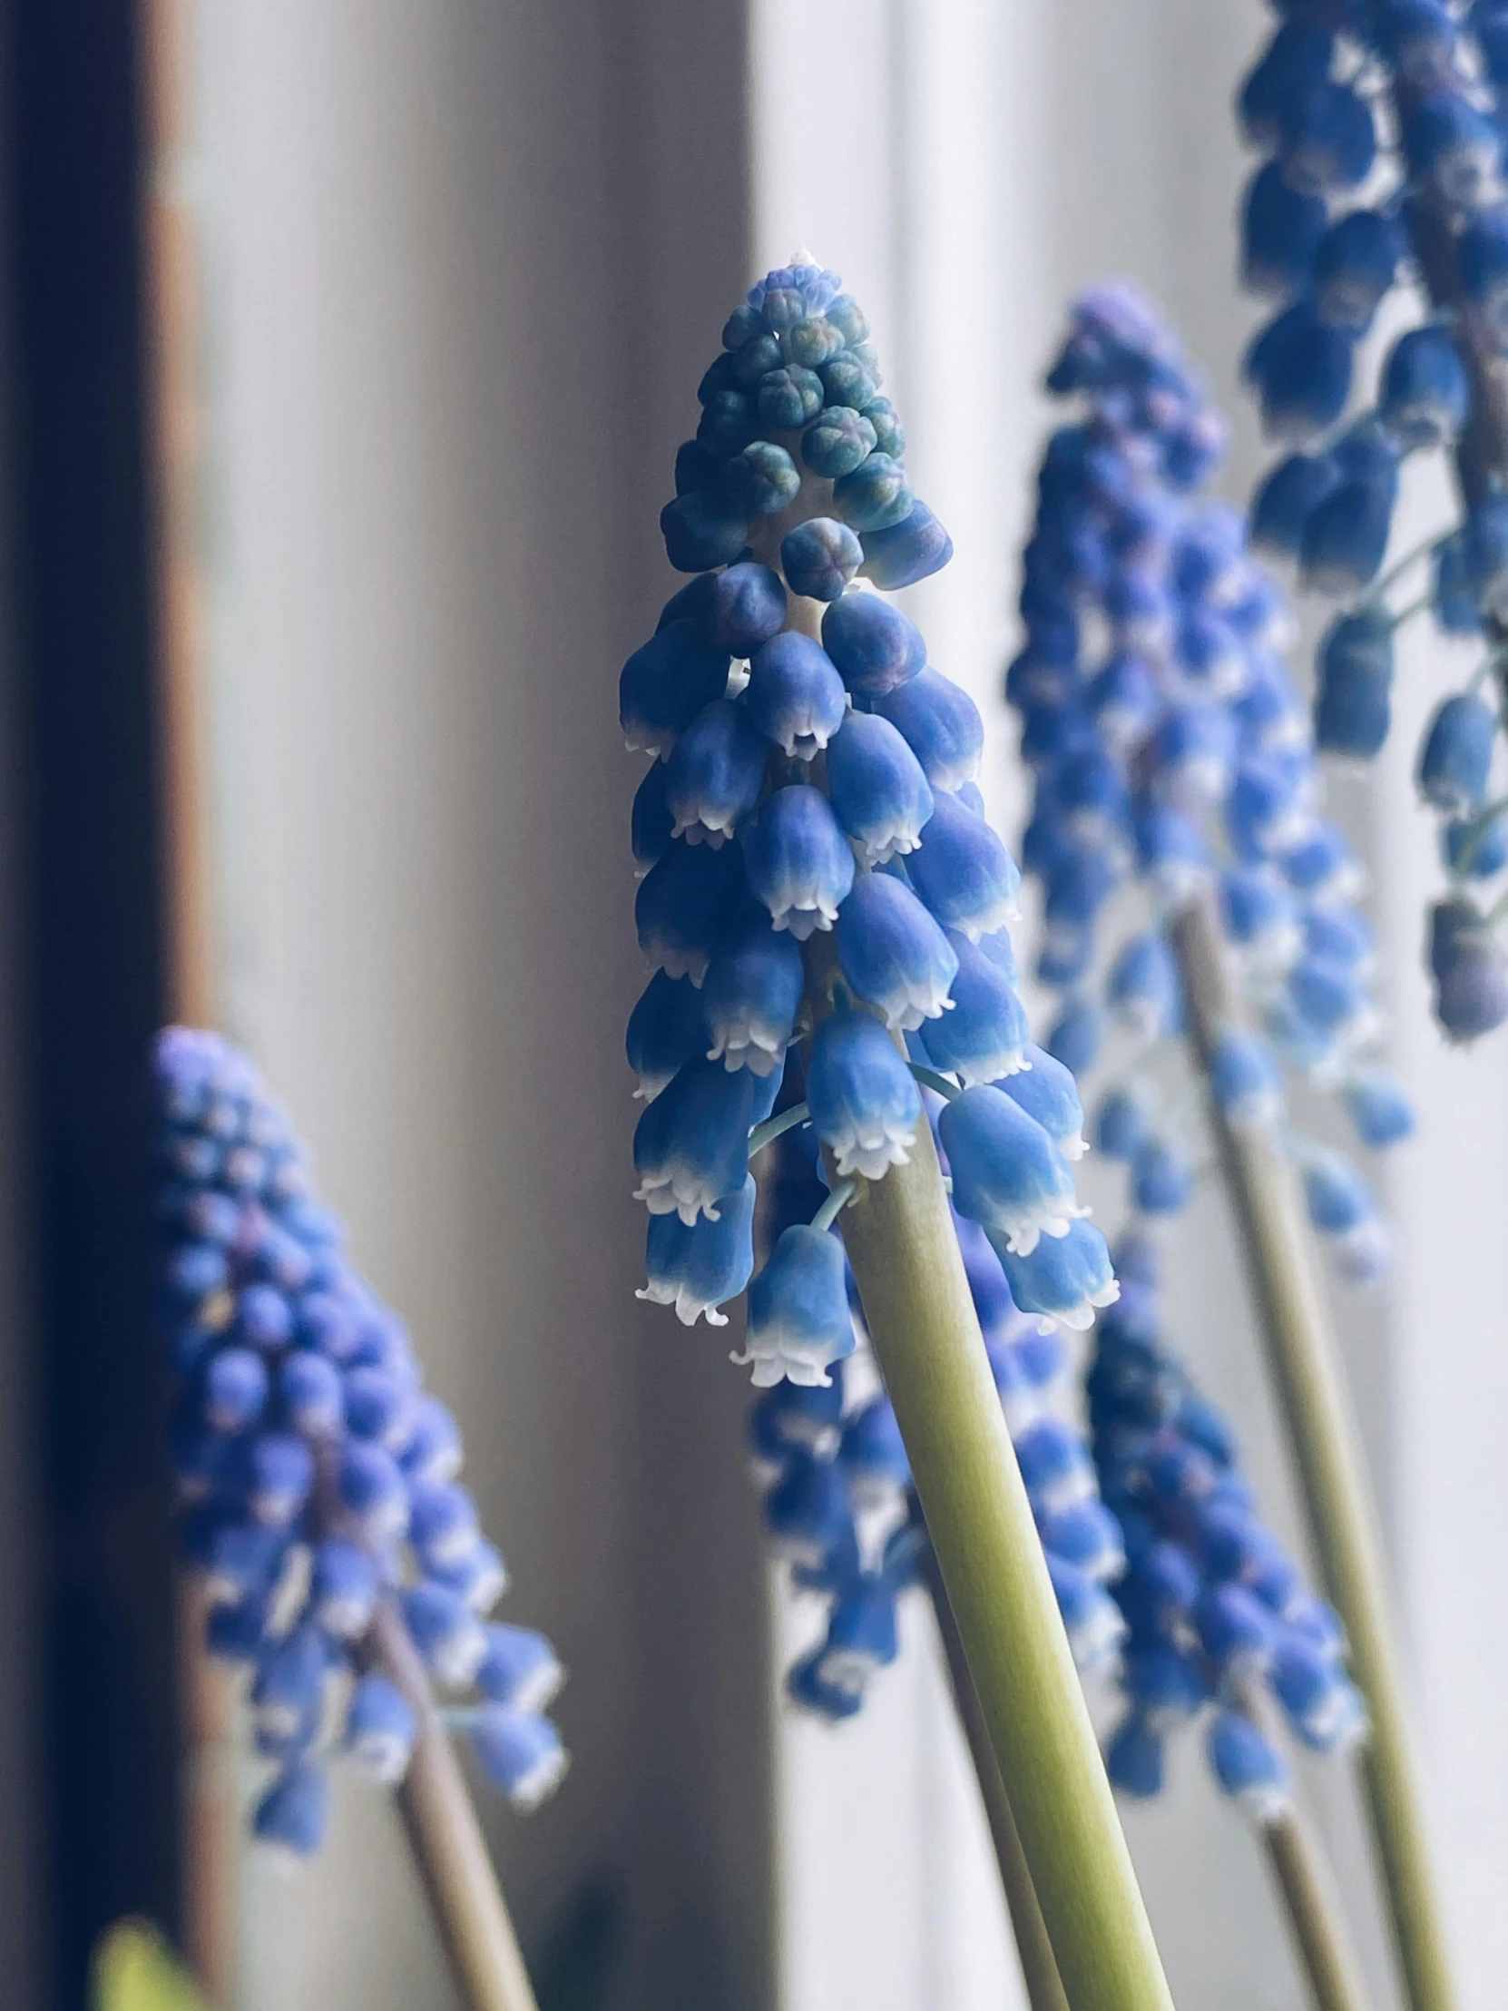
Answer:
M1365 1703L1339 1619L1257 1514L1229 1420L1162 1341L1146 1235L1122 1241L1116 1271L1122 1295L1100 1321L1086 1390L1100 1488L1126 1540L1110 1587L1126 1623L1126 1715L1106 1764L1120 1790L1154 1796L1166 1740L1206 1717L1214 1778L1269 1822L1289 1806L1289 1776L1251 1713L1253 1687L1325 1754L1365 1738Z

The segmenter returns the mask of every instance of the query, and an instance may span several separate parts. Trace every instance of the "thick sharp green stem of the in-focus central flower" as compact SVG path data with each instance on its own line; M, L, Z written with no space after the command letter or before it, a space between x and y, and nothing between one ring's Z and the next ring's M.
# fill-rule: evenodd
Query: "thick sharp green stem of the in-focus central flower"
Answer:
M806 945L806 973L820 1020L830 937ZM842 1241L1068 2003L1172 2011L927 1124L909 1164L859 1182Z

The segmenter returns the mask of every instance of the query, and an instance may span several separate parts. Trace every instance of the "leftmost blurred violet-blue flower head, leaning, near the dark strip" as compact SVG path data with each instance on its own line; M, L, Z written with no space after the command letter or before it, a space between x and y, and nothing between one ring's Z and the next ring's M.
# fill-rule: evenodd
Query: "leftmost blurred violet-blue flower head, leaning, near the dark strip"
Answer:
M487 1621L507 1571L456 1486L454 1418L352 1269L251 1062L175 1026L153 1082L179 1528L209 1595L209 1653L247 1671L273 1770L257 1838L318 1850L336 1752L402 1780L414 1709L364 1653L382 1601L434 1683L475 1693L452 1715L489 1780L537 1806L567 1764L543 1715L563 1671L543 1635Z

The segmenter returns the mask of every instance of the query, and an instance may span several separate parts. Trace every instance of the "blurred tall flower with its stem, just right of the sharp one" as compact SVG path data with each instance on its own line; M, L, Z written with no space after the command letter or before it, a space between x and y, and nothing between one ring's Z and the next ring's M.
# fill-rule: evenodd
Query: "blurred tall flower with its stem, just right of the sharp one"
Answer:
M1255 125L1267 131L1267 113ZM1281 189L1295 193L1287 181ZM1263 205L1269 193L1265 185ZM1271 211L1259 219L1255 209L1257 191L1249 223L1267 231ZM1289 205L1287 215L1283 229L1299 229L1301 213ZM1267 257L1275 239L1261 245ZM1279 346L1273 394L1289 424L1329 398L1333 330L1305 310ZM1369 1150L1409 1128L1401 1096L1385 1090L1391 1110L1381 1116L1371 937L1355 909L1361 875L1323 814L1313 726L1281 658L1291 633L1285 599L1249 549L1277 541L1309 495L1299 479L1307 471L1275 479L1251 531L1229 507L1200 499L1224 426L1172 334L1128 288L1078 302L1048 388L1076 398L1078 414L1042 461L1021 587L1025 644L1005 682L1035 778L1021 857L1042 883L1038 977L1062 993L1046 1046L1080 1074L1110 1050L1116 1080L1094 1112L1094 1136L1126 1160L1142 1207L1166 1215L1186 1197L1174 1160L1186 1156L1182 1128L1204 1106L1325 1591L1367 1699L1373 1735L1361 1774L1413 2011L1446 2011L1375 1518L1303 1203L1341 1269L1375 1273L1385 1239L1359 1178L1309 1180L1301 1199L1295 1158L1309 1148L1285 1120L1289 1092L1319 1092L1339 1100ZM1385 463L1375 428L1347 440L1353 475L1381 479ZM1351 642L1371 644L1365 625ZM1442 762L1444 774L1472 778L1460 750ZM1124 929L1132 905L1132 935L1106 943L1106 925L1114 917ZM1462 915L1460 939L1438 931L1436 969L1456 983L1462 1014L1492 1010L1492 951L1476 919ZM1128 1058L1110 1048L1116 1038L1130 1040ZM1168 1098L1166 1074L1182 1072L1184 1058L1192 1098L1182 1086ZM1333 1207L1341 1199L1349 1213Z

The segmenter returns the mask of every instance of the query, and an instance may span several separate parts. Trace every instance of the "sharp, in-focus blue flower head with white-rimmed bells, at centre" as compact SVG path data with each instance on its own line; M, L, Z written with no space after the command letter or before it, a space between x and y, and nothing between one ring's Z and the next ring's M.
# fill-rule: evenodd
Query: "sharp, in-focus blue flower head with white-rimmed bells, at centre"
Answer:
M806 1110L838 1180L911 1152L923 1100L905 1036L915 1066L961 1086L941 1120L955 1201L1001 1239L1015 1303L1082 1327L1114 1297L1027 1054L1007 933L1019 873L973 786L979 712L875 591L951 551L901 446L838 280L796 261L754 286L664 515L672 563L706 571L619 680L625 740L653 756L633 855L655 975L627 1030L641 1297L688 1325L724 1325L750 1283L750 1146L806 1034ZM758 1386L822 1386L853 1349L824 1229L788 1225L750 1287L740 1359Z

